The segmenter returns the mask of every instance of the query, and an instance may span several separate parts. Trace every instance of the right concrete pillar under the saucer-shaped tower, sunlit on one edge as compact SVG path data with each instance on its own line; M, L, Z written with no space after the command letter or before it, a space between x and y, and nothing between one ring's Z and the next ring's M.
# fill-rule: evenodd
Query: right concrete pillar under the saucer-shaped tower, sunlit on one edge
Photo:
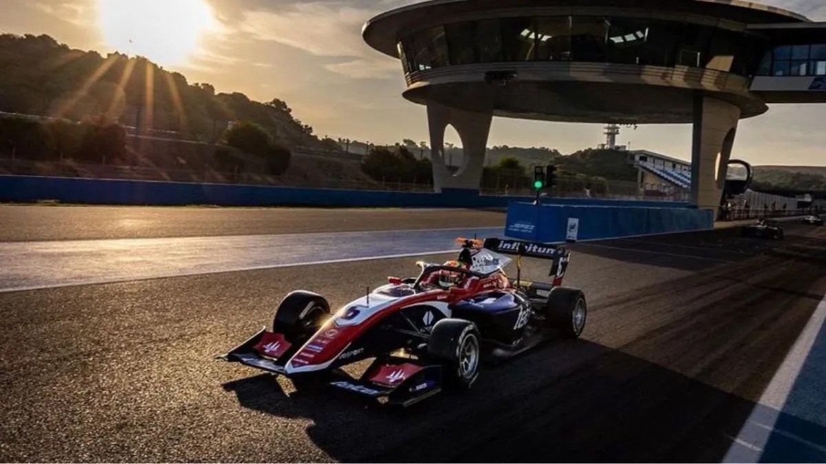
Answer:
M717 217L731 159L740 109L731 103L697 95L691 147L691 202L714 210Z

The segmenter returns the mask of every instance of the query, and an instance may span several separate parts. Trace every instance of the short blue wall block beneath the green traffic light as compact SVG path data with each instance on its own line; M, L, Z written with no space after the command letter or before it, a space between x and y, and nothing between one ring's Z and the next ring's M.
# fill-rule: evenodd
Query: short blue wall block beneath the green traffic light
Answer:
M611 239L714 228L714 213L686 207L542 205L508 207L506 235L538 242L562 242L568 218L579 220L577 240Z

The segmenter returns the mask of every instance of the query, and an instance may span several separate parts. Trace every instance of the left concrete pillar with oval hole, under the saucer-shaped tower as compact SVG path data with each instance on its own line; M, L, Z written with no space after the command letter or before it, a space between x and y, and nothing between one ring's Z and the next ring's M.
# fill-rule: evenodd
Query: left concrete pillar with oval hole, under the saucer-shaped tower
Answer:
M442 192L444 188L479 190L492 119L493 111L464 111L428 102L427 121L430 126L433 184L436 192ZM453 125L462 140L462 165L454 174L449 173L444 157L444 130L448 125Z

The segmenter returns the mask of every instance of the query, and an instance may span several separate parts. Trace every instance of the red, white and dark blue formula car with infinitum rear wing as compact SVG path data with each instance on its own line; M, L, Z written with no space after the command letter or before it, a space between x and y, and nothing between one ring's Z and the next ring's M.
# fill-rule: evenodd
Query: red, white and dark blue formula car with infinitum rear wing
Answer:
M458 241L456 261L417 263L418 277L387 277L387 285L333 315L324 297L293 291L275 311L272 330L217 358L288 376L299 388L331 386L406 406L443 389L468 390L483 359L504 360L555 335L582 334L585 295L562 286L566 249ZM506 255L516 257L515 279L504 272L513 261ZM552 282L522 281L523 257L552 260ZM361 375L342 369L369 359Z

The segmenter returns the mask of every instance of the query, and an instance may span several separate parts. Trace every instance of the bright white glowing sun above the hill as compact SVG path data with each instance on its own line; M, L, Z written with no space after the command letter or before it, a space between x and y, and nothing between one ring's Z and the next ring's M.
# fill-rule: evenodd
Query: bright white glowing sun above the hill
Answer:
M97 0L106 45L158 64L185 64L216 21L206 0Z

